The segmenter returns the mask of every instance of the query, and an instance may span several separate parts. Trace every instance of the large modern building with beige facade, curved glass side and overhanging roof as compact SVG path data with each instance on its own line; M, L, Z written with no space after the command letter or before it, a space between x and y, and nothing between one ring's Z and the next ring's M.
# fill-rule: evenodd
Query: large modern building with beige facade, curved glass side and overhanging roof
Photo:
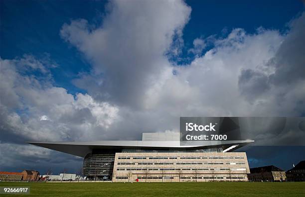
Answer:
M114 182L248 181L253 140L181 146L179 133L143 133L142 141L28 142L83 157L84 176Z

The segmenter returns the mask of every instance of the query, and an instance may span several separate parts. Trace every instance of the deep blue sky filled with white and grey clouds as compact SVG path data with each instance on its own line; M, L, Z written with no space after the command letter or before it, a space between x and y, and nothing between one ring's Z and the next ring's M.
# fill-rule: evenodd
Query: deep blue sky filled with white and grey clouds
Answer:
M304 35L301 0L1 0L0 171L82 166L25 141L141 140L178 132L180 116L305 116ZM275 141L238 151L250 167L305 159L304 144Z

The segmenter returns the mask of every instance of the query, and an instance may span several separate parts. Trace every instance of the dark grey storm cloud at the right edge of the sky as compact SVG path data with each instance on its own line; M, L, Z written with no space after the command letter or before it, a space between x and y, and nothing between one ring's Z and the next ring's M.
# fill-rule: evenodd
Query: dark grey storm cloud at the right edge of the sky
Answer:
M238 81L239 88L242 95L249 100L265 94L271 86L274 86L275 88L270 91L275 91L274 94L277 94L280 98L278 101L281 102L290 91L290 87L299 83L304 84L305 13L293 20L290 23L290 28L275 56L265 65L269 69L274 69L271 74L266 73L264 69L241 71ZM282 88L282 90L277 91L276 88ZM287 92L285 89L288 89ZM300 91L303 92L304 90L301 89ZM304 109L305 105L301 100L304 100L304 97L296 100L296 105L298 108Z

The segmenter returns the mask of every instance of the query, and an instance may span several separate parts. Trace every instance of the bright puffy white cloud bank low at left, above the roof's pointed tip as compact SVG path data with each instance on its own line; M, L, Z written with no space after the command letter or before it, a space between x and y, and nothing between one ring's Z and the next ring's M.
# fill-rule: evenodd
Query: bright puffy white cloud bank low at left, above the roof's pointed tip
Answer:
M0 78L5 82L0 84L1 133L32 141L85 139L94 130L107 129L118 118L118 108L107 102L83 94L74 98L48 81L21 75L18 68L23 63L0 59ZM37 59L32 64L31 68L43 67Z

